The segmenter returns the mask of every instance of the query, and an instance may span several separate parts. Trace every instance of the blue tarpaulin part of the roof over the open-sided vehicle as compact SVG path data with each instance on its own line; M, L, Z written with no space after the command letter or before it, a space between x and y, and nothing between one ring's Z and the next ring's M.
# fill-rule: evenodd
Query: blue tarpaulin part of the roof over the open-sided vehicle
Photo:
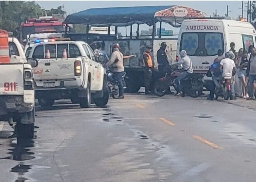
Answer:
M90 24L92 26L129 26L131 24L147 24L152 26L155 13L174 6L142 6L92 8L67 16L66 24Z

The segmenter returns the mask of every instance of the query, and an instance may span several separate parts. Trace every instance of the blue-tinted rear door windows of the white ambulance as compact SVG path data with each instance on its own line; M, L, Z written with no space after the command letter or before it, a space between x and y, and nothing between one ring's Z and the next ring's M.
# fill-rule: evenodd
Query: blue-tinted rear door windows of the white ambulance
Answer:
M223 34L211 32L183 33L180 51L186 50L189 56L214 56L224 50Z

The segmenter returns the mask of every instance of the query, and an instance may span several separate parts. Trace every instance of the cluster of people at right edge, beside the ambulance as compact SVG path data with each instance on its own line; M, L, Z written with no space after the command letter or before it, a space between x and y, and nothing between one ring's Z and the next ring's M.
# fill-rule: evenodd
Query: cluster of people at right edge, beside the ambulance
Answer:
M212 76L214 86L210 87L208 99L213 100L213 94L220 89L220 81L231 79L232 97L255 100L256 88L256 48L249 46L248 52L240 48L235 51L235 43L230 43L230 50L223 56L223 50L218 50L218 57L214 59L208 76Z

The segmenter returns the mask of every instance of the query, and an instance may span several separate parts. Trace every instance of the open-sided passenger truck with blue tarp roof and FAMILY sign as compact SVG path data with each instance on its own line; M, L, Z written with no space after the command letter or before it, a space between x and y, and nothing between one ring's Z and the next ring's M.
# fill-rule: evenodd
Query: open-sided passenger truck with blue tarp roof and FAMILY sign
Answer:
M166 25L177 28L184 19L205 17L199 10L185 6L144 6L144 7L111 7L93 8L66 17L64 24L83 24L85 33L66 33L64 36L72 40L82 40L87 43L102 43L102 49L110 56L111 45L119 43L124 55L137 55L136 58L124 60L126 91L135 93L144 86L143 53L147 45L153 48L152 57L156 63L156 53L161 43L167 43L166 55L170 63L176 60L178 34L165 29ZM90 27L108 27L106 34L89 33ZM145 30L145 27L148 30ZM66 27L68 29L68 27ZM111 29L114 30L112 34ZM123 29L123 31L120 31ZM144 30L141 30L144 29ZM140 31L141 30L141 31Z

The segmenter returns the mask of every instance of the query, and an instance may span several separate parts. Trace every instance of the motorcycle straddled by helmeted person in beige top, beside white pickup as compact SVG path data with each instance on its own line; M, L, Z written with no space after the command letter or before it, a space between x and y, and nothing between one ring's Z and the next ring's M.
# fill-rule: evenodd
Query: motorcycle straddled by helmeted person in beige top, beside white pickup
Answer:
M114 74L110 70L106 70L107 72L107 87L109 89L109 95L112 98L117 99L119 96L119 88L118 82L114 79ZM123 87L125 88L125 75L122 76L123 79Z

